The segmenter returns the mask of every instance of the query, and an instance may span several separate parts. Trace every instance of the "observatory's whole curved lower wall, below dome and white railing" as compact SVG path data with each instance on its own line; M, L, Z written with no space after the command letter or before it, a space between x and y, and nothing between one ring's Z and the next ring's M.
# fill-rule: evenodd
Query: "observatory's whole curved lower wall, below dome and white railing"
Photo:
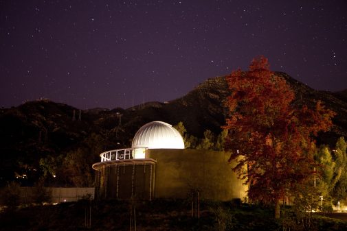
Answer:
M114 160L96 171L96 198L244 199L247 187L238 180L223 151L146 149L146 159ZM147 163L146 163L147 162Z

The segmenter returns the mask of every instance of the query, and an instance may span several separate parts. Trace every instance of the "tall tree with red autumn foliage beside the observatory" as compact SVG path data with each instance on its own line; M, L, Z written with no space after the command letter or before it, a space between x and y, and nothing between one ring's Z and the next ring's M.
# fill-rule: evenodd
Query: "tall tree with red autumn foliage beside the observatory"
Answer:
M331 127L334 112L320 102L315 109L293 108L293 90L263 56L249 71L233 71L226 79L231 95L225 146L237 160L233 169L249 184L249 199L275 204L279 218L284 190L312 177L313 136Z

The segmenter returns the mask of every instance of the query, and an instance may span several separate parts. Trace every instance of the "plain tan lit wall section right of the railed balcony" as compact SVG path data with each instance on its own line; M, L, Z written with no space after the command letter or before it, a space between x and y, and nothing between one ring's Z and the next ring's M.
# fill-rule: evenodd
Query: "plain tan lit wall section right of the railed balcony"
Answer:
M147 149L146 158L157 160L155 197L186 198L199 190L204 199L244 199L247 186L231 170L229 157L221 151Z

